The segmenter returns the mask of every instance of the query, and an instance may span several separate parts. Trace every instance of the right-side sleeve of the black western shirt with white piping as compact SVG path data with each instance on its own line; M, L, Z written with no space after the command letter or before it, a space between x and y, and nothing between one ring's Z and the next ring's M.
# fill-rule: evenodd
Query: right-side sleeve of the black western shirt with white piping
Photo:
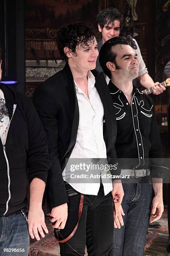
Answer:
M155 109L153 109L149 138L151 143L151 148L149 151L151 176L155 178L164 178L165 176L167 176L169 169L167 168L165 160L163 158L163 147L160 140L160 133L156 120Z

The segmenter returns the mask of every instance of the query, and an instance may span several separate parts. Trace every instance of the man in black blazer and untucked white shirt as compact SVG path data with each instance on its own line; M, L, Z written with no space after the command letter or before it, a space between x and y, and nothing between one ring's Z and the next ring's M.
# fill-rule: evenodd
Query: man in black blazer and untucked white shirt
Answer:
M123 197L121 182L109 178L104 183L100 170L90 182L89 172L79 167L82 162L108 159L115 165L108 174L119 173L115 113L105 77L95 71L95 36L94 28L82 22L60 29L57 46L65 67L37 87L33 96L49 144L47 202L62 256L84 255L85 246L89 256L112 256L112 200L119 204ZM84 179L79 175L74 180L75 159Z

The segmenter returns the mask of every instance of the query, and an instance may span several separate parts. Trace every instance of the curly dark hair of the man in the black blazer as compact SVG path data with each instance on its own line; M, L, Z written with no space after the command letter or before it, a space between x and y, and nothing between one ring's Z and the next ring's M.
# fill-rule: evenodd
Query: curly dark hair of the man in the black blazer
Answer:
M95 42L97 31L92 24L85 22L74 22L66 24L57 33L57 47L63 59L67 60L64 48L68 47L72 53L76 54L76 47L89 46L90 43Z

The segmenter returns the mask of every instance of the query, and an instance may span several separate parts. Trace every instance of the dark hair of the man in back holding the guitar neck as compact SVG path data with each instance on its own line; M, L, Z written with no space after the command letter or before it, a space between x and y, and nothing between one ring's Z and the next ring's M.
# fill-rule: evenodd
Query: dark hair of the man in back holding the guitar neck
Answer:
M116 8L107 8L101 10L100 13L97 14L97 23L101 28L104 28L105 24L113 23L114 20L120 21L120 30L122 29L123 16Z

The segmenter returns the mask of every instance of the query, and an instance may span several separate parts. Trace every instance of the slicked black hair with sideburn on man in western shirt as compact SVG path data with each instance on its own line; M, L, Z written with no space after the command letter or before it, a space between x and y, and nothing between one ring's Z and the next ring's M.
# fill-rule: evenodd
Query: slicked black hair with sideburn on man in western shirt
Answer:
M110 38L105 42L105 44L102 45L99 53L99 62L100 66L103 69L103 72L111 79L111 72L110 69L107 68L106 63L108 61L113 62L115 64L116 69L119 68L116 63L116 54L112 49L112 46L115 46L117 44L128 44L128 41L125 38L122 38L120 36L116 36L114 38Z

